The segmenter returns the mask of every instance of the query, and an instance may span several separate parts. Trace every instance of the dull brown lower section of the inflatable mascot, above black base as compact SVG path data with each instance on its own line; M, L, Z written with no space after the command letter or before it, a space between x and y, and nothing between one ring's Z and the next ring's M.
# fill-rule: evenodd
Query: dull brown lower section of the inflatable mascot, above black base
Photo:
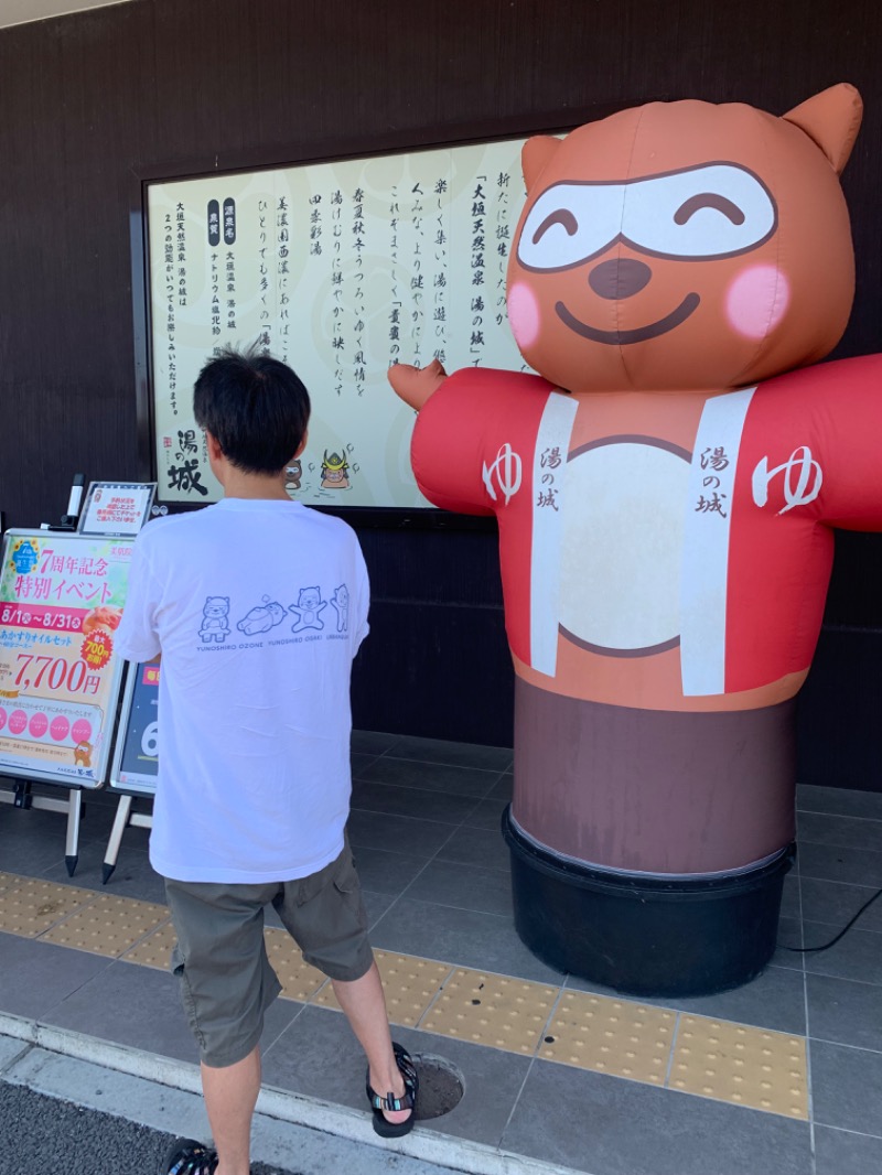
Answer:
M795 707L632 710L516 679L512 813L541 846L588 865L742 868L794 838Z

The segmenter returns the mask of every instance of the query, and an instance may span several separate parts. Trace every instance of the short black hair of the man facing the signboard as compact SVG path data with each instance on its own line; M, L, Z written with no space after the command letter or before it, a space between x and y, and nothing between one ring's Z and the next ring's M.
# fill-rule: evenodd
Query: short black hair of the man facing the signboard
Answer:
M236 469L279 474L306 434L309 394L287 364L256 345L226 347L199 372L193 412Z

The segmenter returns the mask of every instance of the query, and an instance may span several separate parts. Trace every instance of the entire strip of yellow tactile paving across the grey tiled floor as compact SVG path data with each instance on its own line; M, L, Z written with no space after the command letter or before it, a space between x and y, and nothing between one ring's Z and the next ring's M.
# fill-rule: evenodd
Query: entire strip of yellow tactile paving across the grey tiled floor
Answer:
M162 969L175 942L165 906L4 872L0 931ZM285 931L265 934L283 996L339 1007L330 983L302 961ZM656 1086L669 1069L671 1089L808 1119L802 1036L628 999L561 994L416 955L377 951L375 956L393 1023Z

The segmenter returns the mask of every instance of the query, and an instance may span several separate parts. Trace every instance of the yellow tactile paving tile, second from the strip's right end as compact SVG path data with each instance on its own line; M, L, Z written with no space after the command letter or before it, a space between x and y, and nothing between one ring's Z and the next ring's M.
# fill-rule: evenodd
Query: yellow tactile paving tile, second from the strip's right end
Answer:
M663 1086L676 1013L587 992L564 992L539 1055L580 1069Z

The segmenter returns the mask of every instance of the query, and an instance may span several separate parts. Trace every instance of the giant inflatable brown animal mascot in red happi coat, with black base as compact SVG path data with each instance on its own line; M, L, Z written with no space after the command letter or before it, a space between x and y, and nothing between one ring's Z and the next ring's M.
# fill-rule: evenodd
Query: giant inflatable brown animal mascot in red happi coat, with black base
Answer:
M540 375L389 371L423 494L499 522L517 931L619 991L734 987L774 951L834 528L882 529L882 358L817 363L860 121L840 85L530 139L507 302Z

